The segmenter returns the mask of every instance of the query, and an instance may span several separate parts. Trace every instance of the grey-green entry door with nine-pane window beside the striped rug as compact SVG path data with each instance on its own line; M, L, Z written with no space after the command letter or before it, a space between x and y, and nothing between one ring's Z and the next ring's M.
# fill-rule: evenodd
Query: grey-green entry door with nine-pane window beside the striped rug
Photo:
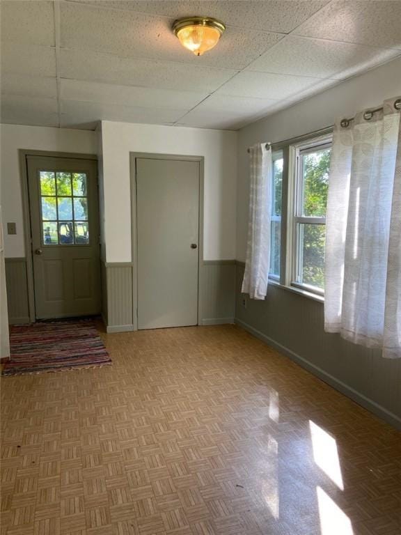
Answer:
M93 160L27 156L36 318L100 313Z

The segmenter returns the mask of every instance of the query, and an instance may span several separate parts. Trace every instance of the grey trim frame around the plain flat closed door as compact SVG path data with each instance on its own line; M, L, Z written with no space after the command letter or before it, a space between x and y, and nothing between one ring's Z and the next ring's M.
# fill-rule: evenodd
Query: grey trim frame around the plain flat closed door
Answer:
M138 268L137 268L137 226L136 226L136 158L148 160L177 160L181 162L199 162L199 215L198 215L198 323L201 325L203 311L203 201L205 191L205 157L183 154L129 153L129 178L131 187L131 251L132 251L132 323L134 331L138 330Z

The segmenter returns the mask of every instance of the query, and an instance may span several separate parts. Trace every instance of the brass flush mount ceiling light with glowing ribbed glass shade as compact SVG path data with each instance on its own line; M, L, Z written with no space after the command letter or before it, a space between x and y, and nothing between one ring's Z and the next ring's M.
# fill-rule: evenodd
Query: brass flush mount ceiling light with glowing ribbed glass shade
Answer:
M187 17L173 24L173 32L181 45L196 56L215 47L225 29L223 22L212 17Z

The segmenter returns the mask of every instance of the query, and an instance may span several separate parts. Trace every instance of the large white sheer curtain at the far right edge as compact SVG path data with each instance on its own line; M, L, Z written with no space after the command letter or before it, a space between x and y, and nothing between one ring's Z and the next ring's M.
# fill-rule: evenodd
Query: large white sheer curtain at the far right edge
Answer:
M386 100L334 127L327 201L324 327L401 357L400 111Z

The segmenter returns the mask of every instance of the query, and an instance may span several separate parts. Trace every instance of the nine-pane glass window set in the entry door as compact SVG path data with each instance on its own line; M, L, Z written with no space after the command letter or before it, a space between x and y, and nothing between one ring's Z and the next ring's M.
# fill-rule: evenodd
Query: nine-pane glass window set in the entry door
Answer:
M39 174L43 245L88 245L86 174Z

